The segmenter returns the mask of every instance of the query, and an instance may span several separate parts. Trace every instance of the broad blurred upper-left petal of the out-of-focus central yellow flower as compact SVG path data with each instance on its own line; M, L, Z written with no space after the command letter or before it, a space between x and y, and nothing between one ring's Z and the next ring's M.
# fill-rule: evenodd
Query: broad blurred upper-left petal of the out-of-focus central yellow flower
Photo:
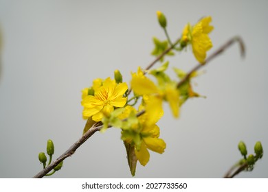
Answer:
M131 80L131 87L137 95L150 95L159 92L154 82L147 77L133 77Z

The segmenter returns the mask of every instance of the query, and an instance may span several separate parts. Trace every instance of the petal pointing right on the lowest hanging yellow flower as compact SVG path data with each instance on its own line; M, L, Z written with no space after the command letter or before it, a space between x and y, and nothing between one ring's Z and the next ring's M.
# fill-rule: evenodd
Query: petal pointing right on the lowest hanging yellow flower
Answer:
M143 139L143 141L146 144L146 147L152 150L153 152L162 154L166 149L166 143L163 139L146 137Z

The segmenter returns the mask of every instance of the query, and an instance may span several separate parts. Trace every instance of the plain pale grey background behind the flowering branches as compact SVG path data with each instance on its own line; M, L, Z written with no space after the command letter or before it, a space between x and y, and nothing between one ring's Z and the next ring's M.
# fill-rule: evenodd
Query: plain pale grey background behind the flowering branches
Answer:
M262 141L265 155L238 177L267 178L267 8L268 1L0 1L0 177L34 176L47 139L56 158L81 136L80 91L115 69L129 82L146 67L152 37L164 39L161 10L173 40L186 23L211 15L213 49L240 35L247 56L234 45L205 67L194 90L207 99L187 101L179 119L165 106L158 125L166 152L151 152L136 177L221 178L241 158L243 140L249 153ZM190 50L169 60L186 71L197 64ZM125 156L120 130L96 133L52 177L131 178Z

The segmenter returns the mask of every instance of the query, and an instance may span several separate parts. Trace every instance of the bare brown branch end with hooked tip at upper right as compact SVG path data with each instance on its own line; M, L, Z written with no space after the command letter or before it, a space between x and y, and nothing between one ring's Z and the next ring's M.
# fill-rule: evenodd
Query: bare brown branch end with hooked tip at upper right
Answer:
M239 44L240 51L241 51L241 57L244 58L245 57L245 44L243 43L243 40L241 37L235 36L234 38L231 38L230 40L228 40L227 43L225 43L224 45L219 47L219 49L214 51L214 53L212 53L212 55L208 56L208 58L205 60L205 62L203 62L202 64L201 63L197 64L196 67L194 67L190 72L188 72L187 75L177 84L177 88L179 88L179 86L181 86L184 82L186 82L190 78L190 75L192 75L192 73L194 73L194 71L197 71L201 67L204 67L205 64L208 64L208 62L210 62L211 60L216 58L216 56L219 56L219 54L223 53L223 51L225 51L225 49L227 49L233 43L236 43L236 42Z

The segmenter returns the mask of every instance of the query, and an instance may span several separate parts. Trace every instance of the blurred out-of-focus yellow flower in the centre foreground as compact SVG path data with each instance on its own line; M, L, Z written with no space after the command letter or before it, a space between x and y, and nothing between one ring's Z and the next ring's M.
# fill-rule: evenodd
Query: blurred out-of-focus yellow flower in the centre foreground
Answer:
M138 69L138 74L132 75L131 87L137 95L148 95L145 109L150 117L163 114L163 100L168 101L174 117L179 117L179 91L177 91L176 84L167 82L164 86L158 87L139 71L140 69Z

